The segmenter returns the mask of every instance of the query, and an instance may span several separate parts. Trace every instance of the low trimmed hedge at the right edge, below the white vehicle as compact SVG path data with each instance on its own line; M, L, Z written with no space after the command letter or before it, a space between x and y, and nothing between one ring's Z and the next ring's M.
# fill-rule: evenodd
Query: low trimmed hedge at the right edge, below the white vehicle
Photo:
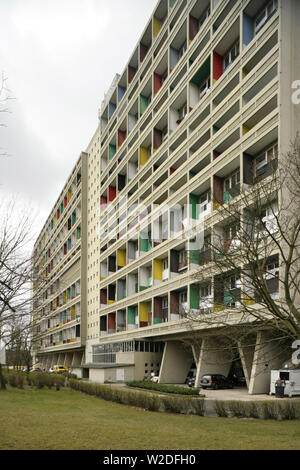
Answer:
M215 411L222 418L300 419L300 400L216 400Z

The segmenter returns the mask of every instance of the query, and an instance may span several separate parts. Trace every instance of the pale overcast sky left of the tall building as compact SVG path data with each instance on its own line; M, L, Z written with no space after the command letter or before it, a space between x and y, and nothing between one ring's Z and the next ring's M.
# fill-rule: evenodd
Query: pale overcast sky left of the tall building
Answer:
M98 124L157 0L0 0L0 198L38 213L40 230Z

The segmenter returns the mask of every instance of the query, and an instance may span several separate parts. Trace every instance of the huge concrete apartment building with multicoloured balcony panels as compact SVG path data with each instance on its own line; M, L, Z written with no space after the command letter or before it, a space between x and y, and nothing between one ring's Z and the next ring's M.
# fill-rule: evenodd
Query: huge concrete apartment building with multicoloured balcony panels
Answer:
M185 317L226 309L234 318L240 305L225 292L220 302L213 276L197 283L193 273L213 262L206 240L233 238L217 209L255 184L249 165L268 177L296 135L299 20L296 0L157 3L36 242L39 361L99 382L155 373L184 383L192 364L197 380L228 374L217 331L199 322L189 342ZM271 262L278 270L279 253ZM239 346L249 393L269 390L264 334L252 350Z

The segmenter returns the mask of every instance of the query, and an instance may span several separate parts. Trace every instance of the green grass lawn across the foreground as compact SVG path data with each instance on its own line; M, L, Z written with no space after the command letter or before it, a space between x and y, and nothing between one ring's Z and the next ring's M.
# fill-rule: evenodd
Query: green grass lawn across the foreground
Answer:
M0 450L299 448L299 421L155 413L68 388L0 392Z

